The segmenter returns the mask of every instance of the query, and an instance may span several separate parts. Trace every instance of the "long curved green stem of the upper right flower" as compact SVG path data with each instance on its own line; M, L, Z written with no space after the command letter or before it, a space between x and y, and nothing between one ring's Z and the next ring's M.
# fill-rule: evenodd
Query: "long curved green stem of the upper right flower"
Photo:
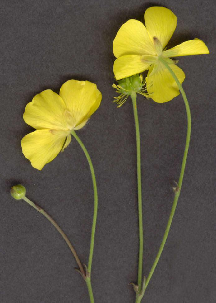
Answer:
M185 92L182 88L181 83L179 82L178 78L176 77L175 73L173 73L172 69L169 67L169 65L166 63L166 61L164 61L164 59L162 57L159 57L159 60L165 65L165 67L171 73L171 75L174 78L174 80L176 81L176 83L178 85L178 88L179 88L179 90L182 94L182 97L184 99L186 112L187 112L187 137L186 137L185 151L184 151L184 156L183 156L183 160L182 160L182 167L181 167L181 172L180 172L180 176L179 176L178 186L175 190L175 197L174 197L172 209L171 209L171 212L170 212L169 220L168 220L168 223L167 223L167 227L166 227L166 230L165 230L165 233L164 233L164 236L163 236L158 254L157 254L157 256L154 260L153 266L152 266L152 268L149 272L149 276L146 279L145 289L146 289L147 285L149 284L149 281L150 281L151 276L154 272L154 269L155 269L155 267L156 267L156 265L159 261L160 255L163 251L163 247L165 245L165 242L166 242L166 239L167 239L167 236L168 236L168 233L169 233L169 229L170 229L170 226L171 226L171 223L172 223L172 218L173 218L174 213L175 213L175 209L176 209L177 202L178 202L178 197L180 195L180 190L181 190L181 187L182 187L182 180L183 180L183 176L184 176L185 164L186 164L187 153L188 153L189 142L190 142L190 136L191 136L191 114L190 114L190 108L189 108L189 104L188 104L188 101L187 101L186 94L185 94Z

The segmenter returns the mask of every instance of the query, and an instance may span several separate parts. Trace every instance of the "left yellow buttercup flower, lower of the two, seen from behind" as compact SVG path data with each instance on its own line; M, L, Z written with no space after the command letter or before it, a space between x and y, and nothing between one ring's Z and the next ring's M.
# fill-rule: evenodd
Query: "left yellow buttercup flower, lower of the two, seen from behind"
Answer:
M25 107L23 119L36 130L21 140L24 156L41 170L71 142L71 130L82 128L101 102L96 84L68 80L59 92L46 89Z

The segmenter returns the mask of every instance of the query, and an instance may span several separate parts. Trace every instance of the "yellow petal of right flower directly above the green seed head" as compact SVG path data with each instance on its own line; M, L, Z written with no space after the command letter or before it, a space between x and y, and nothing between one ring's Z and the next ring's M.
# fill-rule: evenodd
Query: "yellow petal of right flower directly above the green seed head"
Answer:
M149 62L141 61L141 58L142 56L138 55L126 55L116 59L113 65L116 80L141 73L145 69L148 69L150 66Z

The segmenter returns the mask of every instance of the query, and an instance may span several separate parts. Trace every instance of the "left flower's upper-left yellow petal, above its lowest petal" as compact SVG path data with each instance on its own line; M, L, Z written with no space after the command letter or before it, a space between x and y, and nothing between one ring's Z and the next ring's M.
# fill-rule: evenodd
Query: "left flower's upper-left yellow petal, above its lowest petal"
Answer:
M64 125L66 106L62 98L51 89L34 96L25 107L23 119L36 129L67 129Z

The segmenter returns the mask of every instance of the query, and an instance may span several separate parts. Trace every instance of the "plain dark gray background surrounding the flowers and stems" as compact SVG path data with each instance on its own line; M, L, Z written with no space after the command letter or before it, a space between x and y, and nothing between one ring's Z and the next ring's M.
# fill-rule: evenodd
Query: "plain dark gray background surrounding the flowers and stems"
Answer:
M23 200L10 196L22 183L27 197L65 231L88 261L93 189L88 163L72 139L42 171L21 151L33 129L22 119L35 94L68 79L89 80L102 93L99 109L77 131L91 156L99 193L92 266L95 303L134 302L138 218L136 139L131 101L112 104L113 39L128 19L143 21L152 5L170 8L177 28L172 47L198 37L209 55L180 57L192 132L182 191L170 234L145 293L146 303L216 301L215 290L215 1L1 2L0 301L87 303L76 262L54 227ZM144 220L144 268L152 266L173 201L186 139L181 96L157 104L138 96Z

